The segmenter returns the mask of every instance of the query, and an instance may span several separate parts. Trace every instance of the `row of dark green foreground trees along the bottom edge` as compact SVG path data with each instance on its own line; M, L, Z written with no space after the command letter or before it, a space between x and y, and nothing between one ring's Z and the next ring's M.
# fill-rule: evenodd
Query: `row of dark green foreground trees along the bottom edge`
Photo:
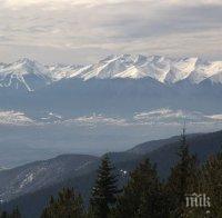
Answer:
M222 150L202 162L190 151L183 131L176 156L168 178L160 178L158 166L144 158L120 186L115 166L105 155L87 206L80 194L64 187L50 197L41 218L221 218ZM3 217L20 218L22 212L14 207L2 211Z

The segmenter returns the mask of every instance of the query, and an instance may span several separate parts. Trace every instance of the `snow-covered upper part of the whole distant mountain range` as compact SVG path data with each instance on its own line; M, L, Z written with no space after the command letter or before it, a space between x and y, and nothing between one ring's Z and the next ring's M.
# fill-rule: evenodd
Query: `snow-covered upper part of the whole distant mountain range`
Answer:
M34 60L21 59L0 63L0 87L23 88L33 91L62 79L142 79L152 78L161 83L188 80L199 85L204 80L222 85L222 61L199 58L173 59L160 56L110 56L94 65L43 66Z

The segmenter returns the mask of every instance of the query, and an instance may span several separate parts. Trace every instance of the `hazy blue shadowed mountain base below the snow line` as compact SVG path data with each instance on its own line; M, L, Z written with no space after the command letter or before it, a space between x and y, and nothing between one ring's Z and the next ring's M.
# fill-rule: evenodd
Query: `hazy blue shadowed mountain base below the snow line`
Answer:
M24 111L32 116L57 111L63 116L104 113L130 116L157 108L185 109L220 113L222 85L204 81L168 86L153 79L63 79L34 92L2 90L1 109ZM10 101L9 101L10 99Z

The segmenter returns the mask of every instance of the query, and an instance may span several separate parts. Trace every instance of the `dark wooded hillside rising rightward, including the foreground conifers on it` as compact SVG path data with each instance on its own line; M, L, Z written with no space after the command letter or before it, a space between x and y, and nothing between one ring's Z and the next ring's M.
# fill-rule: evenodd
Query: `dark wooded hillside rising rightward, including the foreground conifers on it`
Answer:
M91 175L60 184L57 189L51 187L54 191L51 197L48 188L3 207L10 211L18 205L19 216L31 217L31 214L22 214L21 199L26 205L26 200L44 192L48 196L44 209L39 207L36 217L222 217L221 132L188 137L183 132L180 141L176 140L179 138L170 140L149 156L135 155L144 145L124 155L105 155L99 169ZM206 146L210 143L211 147ZM154 161L157 158L159 161ZM167 168L169 172L163 174ZM58 194L56 190L59 189ZM192 201L195 195L198 197ZM2 216L7 216L4 211Z

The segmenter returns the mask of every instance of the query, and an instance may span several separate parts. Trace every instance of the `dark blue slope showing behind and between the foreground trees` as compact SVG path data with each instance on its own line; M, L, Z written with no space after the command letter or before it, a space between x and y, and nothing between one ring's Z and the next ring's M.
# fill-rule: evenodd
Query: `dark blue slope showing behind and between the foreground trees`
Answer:
M222 131L193 135L188 137L191 151L198 155L201 161L204 161L210 155L218 152L222 145ZM154 143L158 145L157 149L153 149ZM110 153L112 161L117 168L117 172L120 176L121 184L124 184L128 179L129 171L144 158L150 158L152 162L158 165L159 175L162 178L168 177L171 167L176 162L176 151L180 146L179 137L167 139L155 142L147 142L139 145L137 148L125 152ZM139 153L138 153L139 150ZM143 155L140 155L143 153ZM98 162L99 164L99 162ZM89 174L69 178L63 178L62 182L44 187L36 192L21 196L8 204L3 205L3 208L9 209L14 205L18 205L26 217L38 217L46 206L50 195L57 195L57 192L67 186L74 187L84 197L85 202L89 199L90 189L93 185L97 174L97 166L90 166Z

